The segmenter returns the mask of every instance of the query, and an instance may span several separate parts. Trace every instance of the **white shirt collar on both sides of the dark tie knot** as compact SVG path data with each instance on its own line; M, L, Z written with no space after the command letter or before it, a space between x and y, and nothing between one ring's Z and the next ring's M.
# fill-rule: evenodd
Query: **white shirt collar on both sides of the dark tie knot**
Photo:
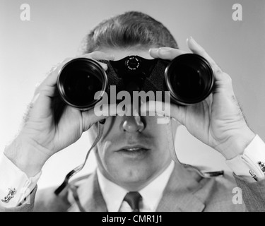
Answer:
M153 182L139 191L143 198L144 209L155 211L155 209L158 207L158 203L163 196L163 191L165 189L165 186L167 185L168 180L170 179L170 175L173 169L174 162L171 162L162 174L160 174L153 180ZM97 169L97 174L98 183L100 185L102 196L107 205L107 210L109 212L118 212L119 208L122 205L122 201L124 200L124 196L128 191L105 178L99 169Z

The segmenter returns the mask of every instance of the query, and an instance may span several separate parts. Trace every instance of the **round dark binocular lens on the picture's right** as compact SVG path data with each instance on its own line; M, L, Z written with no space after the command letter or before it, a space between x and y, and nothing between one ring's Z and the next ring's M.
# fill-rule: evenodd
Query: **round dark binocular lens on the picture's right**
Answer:
M173 101L191 105L208 97L213 89L214 76L206 59L196 54L183 54L167 66L165 83Z

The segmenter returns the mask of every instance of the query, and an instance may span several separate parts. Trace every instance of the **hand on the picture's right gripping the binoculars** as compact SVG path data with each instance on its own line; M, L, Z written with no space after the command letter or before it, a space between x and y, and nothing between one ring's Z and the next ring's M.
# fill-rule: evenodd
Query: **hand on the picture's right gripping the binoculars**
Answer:
M206 145L218 150L227 160L243 153L255 134L245 121L239 103L232 88L232 79L223 72L206 51L192 38L187 40L189 49L199 54L211 64L216 77L213 93L206 100L195 105L179 106L171 104L170 112L157 112L175 118L184 125L189 133ZM169 59L186 54L180 49L161 47L150 49L153 58ZM169 103L165 103L167 105ZM148 102L141 111L155 111L155 102Z

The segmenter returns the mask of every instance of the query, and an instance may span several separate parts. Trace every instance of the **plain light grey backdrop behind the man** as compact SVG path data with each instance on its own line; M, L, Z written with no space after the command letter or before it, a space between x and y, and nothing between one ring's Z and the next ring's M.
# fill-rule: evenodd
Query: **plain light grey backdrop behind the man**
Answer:
M20 20L21 4L30 5L30 21ZM242 21L232 20L232 5L242 5ZM142 11L160 20L188 50L190 35L230 74L249 126L265 140L264 0L0 0L0 151L18 131L35 84L49 69L75 57L88 30L125 11ZM83 162L87 133L45 165L39 187L60 184ZM228 169L224 158L182 128L176 138L179 159L213 170ZM90 157L81 174L95 169ZM79 176L81 174L78 174Z

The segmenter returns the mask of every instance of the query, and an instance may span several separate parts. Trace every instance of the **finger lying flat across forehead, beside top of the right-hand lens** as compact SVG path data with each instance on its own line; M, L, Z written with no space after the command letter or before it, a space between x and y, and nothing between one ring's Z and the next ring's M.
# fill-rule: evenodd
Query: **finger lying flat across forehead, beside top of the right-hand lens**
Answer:
M149 49L149 54L153 58L168 59L172 60L182 54L187 54L187 52L181 49L174 49L170 47L160 47Z

